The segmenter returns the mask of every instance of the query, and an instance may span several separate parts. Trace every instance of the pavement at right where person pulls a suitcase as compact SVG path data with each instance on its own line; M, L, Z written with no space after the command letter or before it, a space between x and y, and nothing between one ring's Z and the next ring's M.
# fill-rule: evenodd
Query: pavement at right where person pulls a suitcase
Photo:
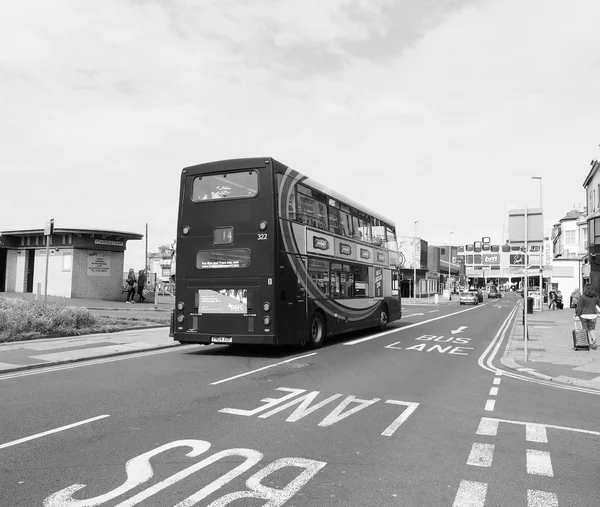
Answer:
M527 316L526 359L522 308L521 303L501 358L502 364L544 380L600 390L600 348L590 351L573 348L571 331L575 309L565 306L563 310L549 310L545 307L543 312Z

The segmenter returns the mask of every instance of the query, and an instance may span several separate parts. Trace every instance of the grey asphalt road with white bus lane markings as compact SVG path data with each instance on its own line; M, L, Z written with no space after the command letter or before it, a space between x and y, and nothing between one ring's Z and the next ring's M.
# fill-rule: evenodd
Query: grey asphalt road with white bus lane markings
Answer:
M598 393L503 374L516 302L0 376L0 505L597 507Z

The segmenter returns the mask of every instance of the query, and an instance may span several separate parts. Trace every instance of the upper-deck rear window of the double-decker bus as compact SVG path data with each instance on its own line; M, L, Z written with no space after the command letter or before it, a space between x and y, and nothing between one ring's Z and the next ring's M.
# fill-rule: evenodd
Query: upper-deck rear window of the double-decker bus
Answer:
M194 178L192 201L247 199L258 193L258 172L238 171Z

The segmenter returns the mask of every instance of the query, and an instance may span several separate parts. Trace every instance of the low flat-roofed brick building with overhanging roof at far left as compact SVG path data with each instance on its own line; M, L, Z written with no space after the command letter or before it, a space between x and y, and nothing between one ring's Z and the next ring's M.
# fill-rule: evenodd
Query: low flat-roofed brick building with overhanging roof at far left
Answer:
M54 229L49 236L48 295L121 301L128 240L144 236L95 229ZM0 292L45 292L43 229L0 232Z

